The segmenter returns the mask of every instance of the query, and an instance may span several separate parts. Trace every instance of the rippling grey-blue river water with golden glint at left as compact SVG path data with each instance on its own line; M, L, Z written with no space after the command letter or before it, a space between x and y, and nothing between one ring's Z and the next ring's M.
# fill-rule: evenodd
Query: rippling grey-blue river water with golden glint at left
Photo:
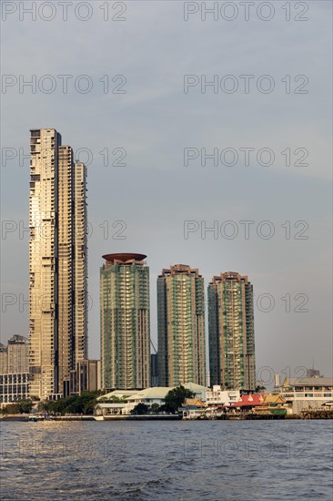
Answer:
M332 423L2 422L1 500L331 501Z

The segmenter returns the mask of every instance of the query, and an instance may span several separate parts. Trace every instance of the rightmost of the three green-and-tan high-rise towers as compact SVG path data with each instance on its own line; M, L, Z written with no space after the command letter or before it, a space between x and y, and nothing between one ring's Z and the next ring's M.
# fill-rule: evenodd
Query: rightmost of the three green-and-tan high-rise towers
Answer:
M233 271L208 285L210 383L255 391L256 359L253 287Z

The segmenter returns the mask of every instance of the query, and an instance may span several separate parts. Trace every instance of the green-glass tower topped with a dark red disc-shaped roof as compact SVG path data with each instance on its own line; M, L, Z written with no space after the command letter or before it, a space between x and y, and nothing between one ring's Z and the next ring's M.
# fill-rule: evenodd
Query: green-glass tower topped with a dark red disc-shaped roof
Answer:
M100 270L102 389L150 384L149 268L144 254L106 254Z

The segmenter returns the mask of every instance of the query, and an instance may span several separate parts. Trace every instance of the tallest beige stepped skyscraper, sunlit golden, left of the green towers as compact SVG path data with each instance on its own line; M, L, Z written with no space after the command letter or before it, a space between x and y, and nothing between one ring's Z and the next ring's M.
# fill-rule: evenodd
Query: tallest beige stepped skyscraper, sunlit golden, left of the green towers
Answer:
M86 167L54 128L30 147L30 394L57 398L86 358Z

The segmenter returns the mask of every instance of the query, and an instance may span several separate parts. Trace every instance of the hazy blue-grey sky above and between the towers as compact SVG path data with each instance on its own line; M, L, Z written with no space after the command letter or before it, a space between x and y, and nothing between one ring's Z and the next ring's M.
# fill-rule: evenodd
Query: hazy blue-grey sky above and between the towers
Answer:
M331 3L33 4L2 12L2 343L28 335L29 129L56 128L88 164L91 358L102 255L140 252L155 345L163 268L238 271L257 379L331 375Z

